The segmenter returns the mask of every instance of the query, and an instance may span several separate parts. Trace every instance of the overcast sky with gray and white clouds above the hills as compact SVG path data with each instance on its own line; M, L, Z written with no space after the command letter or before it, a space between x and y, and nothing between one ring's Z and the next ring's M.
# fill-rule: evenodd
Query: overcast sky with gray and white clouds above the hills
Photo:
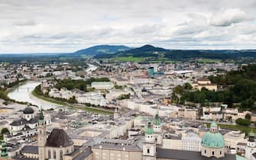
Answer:
M256 49L256 0L0 0L0 53Z

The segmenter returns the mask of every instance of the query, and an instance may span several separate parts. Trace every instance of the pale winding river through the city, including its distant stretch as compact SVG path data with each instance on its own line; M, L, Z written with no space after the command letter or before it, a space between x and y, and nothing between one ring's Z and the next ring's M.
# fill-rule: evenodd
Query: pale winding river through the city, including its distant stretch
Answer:
M88 63L89 68L86 69L86 72L91 72L93 70L96 70L98 67L94 66L92 64ZM24 85L18 86L18 88L15 88L14 91L11 91L8 94L8 97L11 99L14 99L15 101L24 101L28 102L34 105L37 105L38 107L42 107L43 109L50 109L50 108L57 108L57 107L63 107L59 104L53 104L48 101L41 100L39 98L34 97L31 92L34 90L37 85L40 85L41 82L27 82Z

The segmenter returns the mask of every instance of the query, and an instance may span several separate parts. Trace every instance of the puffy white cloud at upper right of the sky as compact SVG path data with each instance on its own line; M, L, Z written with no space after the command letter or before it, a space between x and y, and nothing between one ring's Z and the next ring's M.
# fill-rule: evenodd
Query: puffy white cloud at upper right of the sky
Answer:
M228 8L212 14L209 24L213 26L226 27L252 18L239 8Z

